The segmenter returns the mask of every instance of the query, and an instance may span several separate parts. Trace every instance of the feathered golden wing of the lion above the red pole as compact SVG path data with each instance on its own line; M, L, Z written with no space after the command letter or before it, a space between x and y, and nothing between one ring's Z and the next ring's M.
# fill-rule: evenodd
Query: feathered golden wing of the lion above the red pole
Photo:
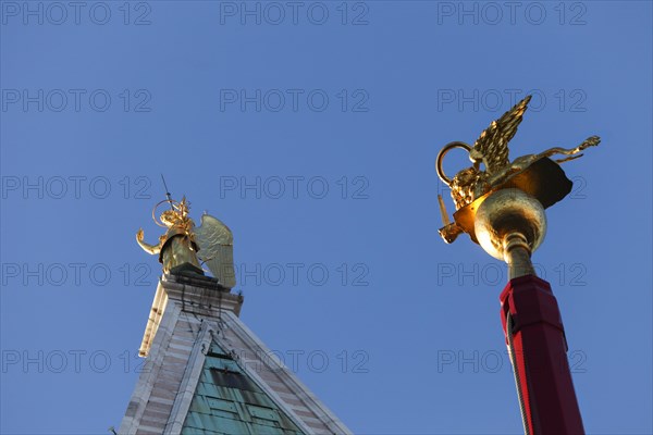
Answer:
M510 164L508 142L517 133L517 127L521 123L530 99L531 96L526 97L504 113L502 117L492 121L492 124L481 133L481 136L473 144L473 149L483 154L488 173L495 173Z

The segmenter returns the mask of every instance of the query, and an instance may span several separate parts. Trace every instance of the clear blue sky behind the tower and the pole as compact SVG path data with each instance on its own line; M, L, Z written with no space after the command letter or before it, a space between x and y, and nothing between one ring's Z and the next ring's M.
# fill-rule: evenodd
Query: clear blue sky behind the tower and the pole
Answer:
M520 433L505 266L441 240L433 162L529 91L513 158L603 139L533 258L586 430L653 431L651 2L0 5L2 433L120 425L160 173L230 225L243 321L352 431Z

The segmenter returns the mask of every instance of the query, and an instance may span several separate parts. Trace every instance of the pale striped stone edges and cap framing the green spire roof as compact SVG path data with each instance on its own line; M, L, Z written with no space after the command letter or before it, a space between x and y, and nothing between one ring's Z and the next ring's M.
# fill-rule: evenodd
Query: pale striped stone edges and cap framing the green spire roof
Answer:
M243 297L211 279L164 275L139 353L146 358L119 434L181 434L211 344L305 434L350 431L238 319Z

